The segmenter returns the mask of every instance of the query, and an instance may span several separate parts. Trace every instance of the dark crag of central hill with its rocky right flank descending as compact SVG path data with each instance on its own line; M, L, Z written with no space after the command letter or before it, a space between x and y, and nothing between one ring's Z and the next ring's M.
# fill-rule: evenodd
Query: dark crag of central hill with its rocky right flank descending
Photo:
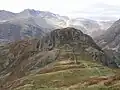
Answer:
M58 48L66 44L72 48L73 52L87 52L93 59L98 60L98 62L110 67L114 67L115 65L116 67L115 62L105 55L104 51L96 45L90 36L74 28L52 31L43 38L41 47L42 49L47 48L48 50L52 50L53 48Z

